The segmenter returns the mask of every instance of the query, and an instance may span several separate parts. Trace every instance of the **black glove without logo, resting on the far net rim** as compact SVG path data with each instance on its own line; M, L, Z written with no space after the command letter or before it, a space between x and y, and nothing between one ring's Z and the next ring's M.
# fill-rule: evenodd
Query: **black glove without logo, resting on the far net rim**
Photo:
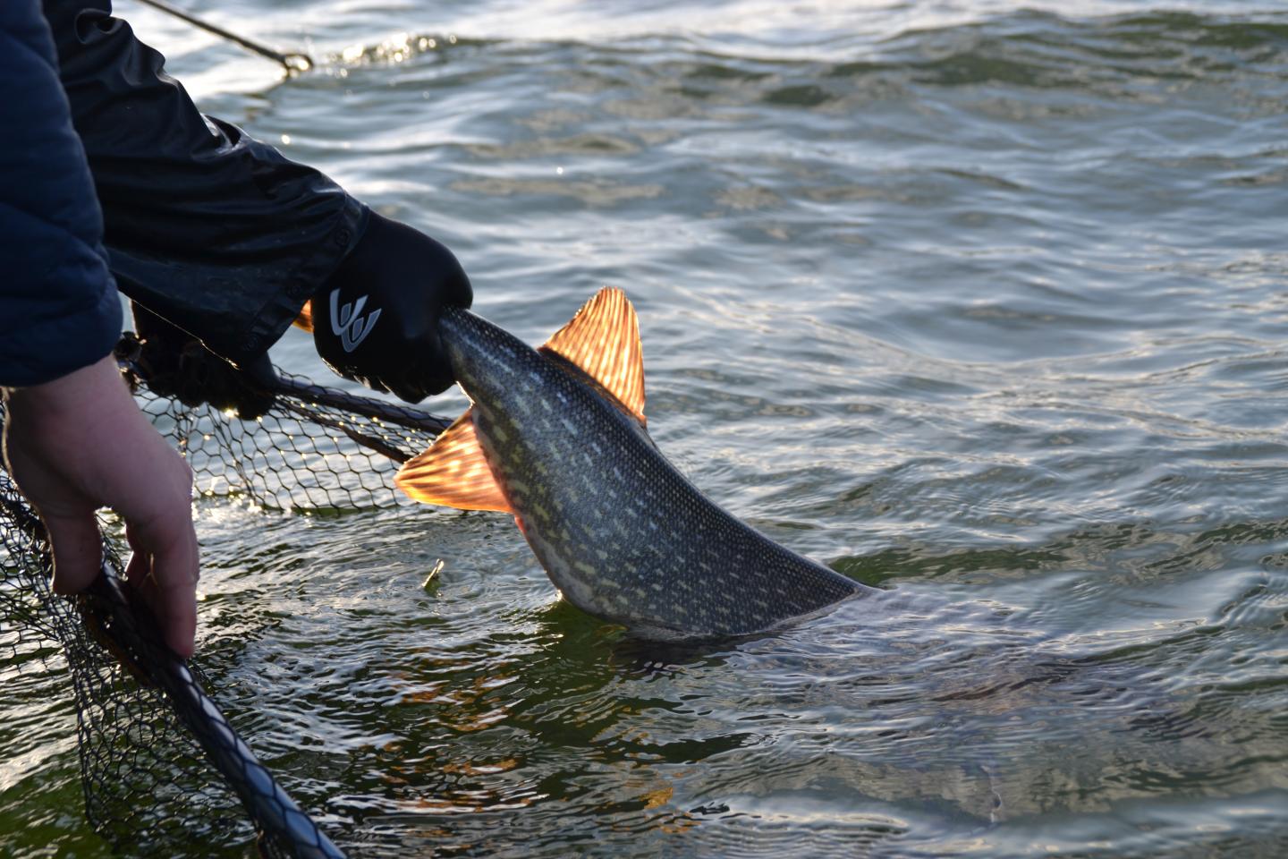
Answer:
M277 373L268 353L238 370L187 331L139 304L133 309L142 341L134 361L152 393L173 397L184 406L210 403L220 411L231 408L247 421L272 408Z

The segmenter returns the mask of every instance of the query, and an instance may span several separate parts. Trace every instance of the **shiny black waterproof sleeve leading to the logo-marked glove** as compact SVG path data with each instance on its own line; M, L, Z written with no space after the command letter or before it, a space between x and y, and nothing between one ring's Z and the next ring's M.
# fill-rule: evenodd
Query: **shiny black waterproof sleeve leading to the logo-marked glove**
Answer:
M317 170L207 118L111 0L44 0L121 291L242 364L366 227Z

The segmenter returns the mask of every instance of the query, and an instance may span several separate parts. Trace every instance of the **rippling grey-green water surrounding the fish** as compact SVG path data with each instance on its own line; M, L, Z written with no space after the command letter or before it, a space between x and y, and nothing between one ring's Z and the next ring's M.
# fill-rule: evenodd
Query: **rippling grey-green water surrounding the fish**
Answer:
M1288 13L620 5L185 4L290 81L118 12L516 335L626 288L662 449L904 608L663 649L505 516L202 502L251 746L355 855L1282 855ZM0 853L99 855L24 677Z

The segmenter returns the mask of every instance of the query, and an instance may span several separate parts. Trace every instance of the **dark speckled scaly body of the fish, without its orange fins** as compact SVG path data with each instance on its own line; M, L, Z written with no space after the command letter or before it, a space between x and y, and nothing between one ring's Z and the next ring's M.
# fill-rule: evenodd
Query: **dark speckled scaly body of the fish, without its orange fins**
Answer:
M587 373L447 310L487 464L564 598L654 639L742 635L878 592L712 504Z

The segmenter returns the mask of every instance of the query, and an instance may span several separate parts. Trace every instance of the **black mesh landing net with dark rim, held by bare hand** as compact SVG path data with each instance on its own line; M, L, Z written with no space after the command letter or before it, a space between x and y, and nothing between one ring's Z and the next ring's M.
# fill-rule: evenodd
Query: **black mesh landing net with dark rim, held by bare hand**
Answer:
M286 375L272 408L243 421L157 397L137 368L126 375L140 407L188 458L200 495L273 509L399 504L398 464L447 425ZM200 657L182 662L160 643L124 583L118 528L103 525L103 576L77 598L54 595L43 527L0 470L0 683L21 694L33 674L70 676L93 828L129 855L191 854L202 836L227 842L229 833L255 840L265 856L343 855L207 695ZM0 764L6 756L0 751Z

